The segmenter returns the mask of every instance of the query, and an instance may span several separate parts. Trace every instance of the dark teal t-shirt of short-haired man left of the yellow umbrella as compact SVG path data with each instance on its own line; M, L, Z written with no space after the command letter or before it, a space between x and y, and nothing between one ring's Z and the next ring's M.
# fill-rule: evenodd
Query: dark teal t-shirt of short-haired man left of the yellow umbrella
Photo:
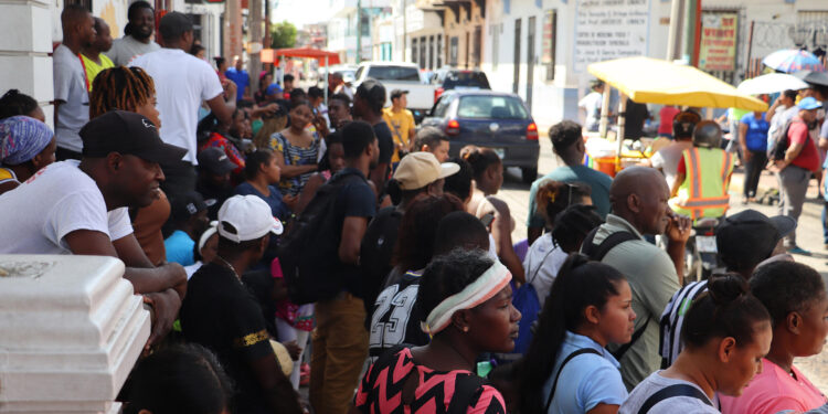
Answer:
M601 172L593 170L586 166L564 166L559 167L554 171L539 178L532 183L532 188L529 191L529 216L527 217L528 227L544 227L545 220L543 214L537 212L538 203L535 197L538 195L538 188L544 180L563 181L563 182L584 182L592 187L592 203L595 205L597 213L602 217L606 219L609 214L609 185L613 184L613 179Z

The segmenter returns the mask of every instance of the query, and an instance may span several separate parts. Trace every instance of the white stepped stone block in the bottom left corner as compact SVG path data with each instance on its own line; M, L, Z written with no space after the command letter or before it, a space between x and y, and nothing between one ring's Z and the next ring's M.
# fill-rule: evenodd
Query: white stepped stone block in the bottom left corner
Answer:
M110 257L0 255L0 413L117 412L150 330L123 275Z

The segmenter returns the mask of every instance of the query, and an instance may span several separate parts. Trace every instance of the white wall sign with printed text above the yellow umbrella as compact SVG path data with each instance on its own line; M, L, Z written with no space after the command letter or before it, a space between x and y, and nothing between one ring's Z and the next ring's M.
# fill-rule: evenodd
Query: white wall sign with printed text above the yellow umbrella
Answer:
M650 0L577 0L573 68L647 54Z

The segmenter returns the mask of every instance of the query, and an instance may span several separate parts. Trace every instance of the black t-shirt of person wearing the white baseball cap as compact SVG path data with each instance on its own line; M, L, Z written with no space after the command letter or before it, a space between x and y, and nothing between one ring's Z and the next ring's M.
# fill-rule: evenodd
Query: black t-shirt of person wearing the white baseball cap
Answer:
M215 352L233 379L232 412L269 413L251 364L273 355L273 348L262 309L233 272L213 263L195 272L180 317L184 338Z

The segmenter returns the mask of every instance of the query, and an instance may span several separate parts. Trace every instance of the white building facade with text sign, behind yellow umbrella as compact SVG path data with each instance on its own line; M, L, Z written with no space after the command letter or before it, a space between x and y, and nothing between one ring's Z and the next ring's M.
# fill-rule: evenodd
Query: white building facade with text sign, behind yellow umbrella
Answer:
M481 68L492 89L512 91L542 126L580 119L593 62L664 59L670 2L661 0L489 0Z

